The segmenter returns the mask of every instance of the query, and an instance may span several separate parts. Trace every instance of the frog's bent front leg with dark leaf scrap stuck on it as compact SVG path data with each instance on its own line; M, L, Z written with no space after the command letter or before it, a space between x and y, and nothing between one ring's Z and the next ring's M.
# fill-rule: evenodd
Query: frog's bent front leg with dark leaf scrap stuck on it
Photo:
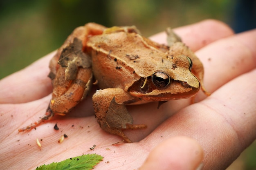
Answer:
M144 124L132 124L132 116L126 109L126 104L139 102L121 88L105 88L97 91L92 102L98 123L103 130L122 137L126 142L132 142L123 132L124 129L146 128Z

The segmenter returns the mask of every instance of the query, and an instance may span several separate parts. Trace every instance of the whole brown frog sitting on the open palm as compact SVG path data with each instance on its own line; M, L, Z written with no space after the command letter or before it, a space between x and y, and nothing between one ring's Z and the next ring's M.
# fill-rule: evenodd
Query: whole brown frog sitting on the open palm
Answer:
M171 29L167 34L168 46L141 36L135 26L88 23L76 28L50 62L53 93L46 114L19 131L68 113L87 96L94 81L101 88L92 97L99 125L126 142L132 141L124 129L146 128L132 124L127 104L185 99L200 88L209 95L202 84L200 60Z

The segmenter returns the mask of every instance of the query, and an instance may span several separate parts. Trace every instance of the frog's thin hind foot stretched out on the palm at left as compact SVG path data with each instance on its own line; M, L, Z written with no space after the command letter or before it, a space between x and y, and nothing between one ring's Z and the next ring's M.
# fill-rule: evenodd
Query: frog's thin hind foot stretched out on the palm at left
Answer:
M50 119L52 119L52 117L54 116L54 112L52 111L52 109L48 106L46 113L43 117L41 117L38 121L35 121L34 123L32 123L29 126L23 127L18 129L19 132L23 132L25 130L31 130L34 129L36 126L42 124L45 121L48 121Z

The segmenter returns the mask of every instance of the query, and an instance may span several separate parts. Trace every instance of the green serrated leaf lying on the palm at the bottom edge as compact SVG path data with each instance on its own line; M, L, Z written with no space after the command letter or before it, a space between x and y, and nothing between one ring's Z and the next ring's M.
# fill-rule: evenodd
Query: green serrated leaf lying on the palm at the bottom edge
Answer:
M97 154L88 154L66 159L61 162L53 162L37 167L36 170L91 170L103 157Z

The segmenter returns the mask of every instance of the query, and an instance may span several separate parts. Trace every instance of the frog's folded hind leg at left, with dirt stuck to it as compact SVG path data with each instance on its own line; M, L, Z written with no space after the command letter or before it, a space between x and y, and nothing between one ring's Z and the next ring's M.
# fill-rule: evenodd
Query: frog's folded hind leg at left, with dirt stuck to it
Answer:
M92 86L92 64L87 53L88 36L102 34L105 26L88 23L76 28L50 61L49 77L52 79L52 99L45 115L33 124L18 129L29 130L51 119L64 115L84 99Z

